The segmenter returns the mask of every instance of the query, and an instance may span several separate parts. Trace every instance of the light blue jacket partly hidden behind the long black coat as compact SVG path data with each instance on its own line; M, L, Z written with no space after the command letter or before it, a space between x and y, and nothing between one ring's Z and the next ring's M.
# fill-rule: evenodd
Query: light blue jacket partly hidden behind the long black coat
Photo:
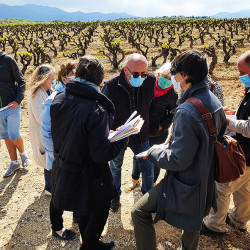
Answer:
M41 124L41 136L42 144L46 151L46 168L51 170L52 164L54 161L54 146L51 136L51 117L50 117L50 106L58 93L65 91L65 85L59 82L54 92L47 98L43 103L43 112L42 112L42 124Z

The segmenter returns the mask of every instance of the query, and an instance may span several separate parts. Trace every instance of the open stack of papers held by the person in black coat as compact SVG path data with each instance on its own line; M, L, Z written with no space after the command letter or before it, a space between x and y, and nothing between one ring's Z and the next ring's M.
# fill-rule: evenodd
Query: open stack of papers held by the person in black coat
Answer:
M135 111L128 120L120 127L118 131L111 132L108 139L111 142L119 141L133 134L138 134L142 128L144 120L140 115L136 116L137 111Z

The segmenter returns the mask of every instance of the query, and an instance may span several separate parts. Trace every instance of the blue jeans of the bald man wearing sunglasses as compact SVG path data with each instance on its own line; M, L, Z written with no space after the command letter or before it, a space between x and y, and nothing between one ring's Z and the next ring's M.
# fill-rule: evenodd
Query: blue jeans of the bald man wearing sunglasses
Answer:
M146 151L150 148L148 140L142 146L133 146L130 147L134 155L137 155L143 151ZM125 150L121 151L120 154L110 161L110 169L113 176L114 184L118 195L121 195L121 167L123 163ZM148 192L153 187L154 179L154 165L148 161L140 158L137 160L139 169L142 173L142 188L141 191L143 194Z

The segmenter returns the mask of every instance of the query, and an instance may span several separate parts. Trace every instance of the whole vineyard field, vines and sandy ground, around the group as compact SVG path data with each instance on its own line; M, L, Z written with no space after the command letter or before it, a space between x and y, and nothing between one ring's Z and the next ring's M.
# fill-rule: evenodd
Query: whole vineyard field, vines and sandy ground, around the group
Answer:
M113 74L120 72L122 61L120 64L118 62L123 58L123 53L124 55L133 52L144 53L149 61L148 71L154 73L162 65L164 56L168 61L174 57L173 53L179 54L180 51L189 49L191 43L193 43L192 47L194 49L207 53L209 53L208 49L212 51L214 48L215 53L210 51L213 57L207 57L209 63L212 61L212 58L217 58L217 63L212 71L212 78L221 83L226 105L231 108L237 108L244 94L243 86L238 78L237 58L241 53L250 49L249 19L244 19L243 21L244 24L241 23L242 20L237 22L228 20L225 23L221 20L203 21L203 23L202 21L191 20L187 23L185 23L186 21L183 21L183 23L173 22L165 24L163 22L139 22L137 24L133 22L122 22L120 24L106 22L77 24L76 26L72 23L65 25L59 23L57 24L59 28L56 24L51 24L47 28L42 25L40 27L39 24L37 26L7 25L0 26L2 32L0 34L0 40L2 39L0 44L3 48L3 41L6 41L5 51L18 59L21 69L25 69L25 64L27 65L30 60L25 69L26 80L29 79L35 67L41 63L51 63L58 70L62 63L69 60L77 61L77 56L84 53L96 56L102 61L106 68L105 79L108 79ZM79 28L81 25L83 25L82 30ZM165 26L162 34L160 27L163 25ZM91 27L94 30L93 34L88 38L88 43L86 34L91 34ZM152 30L153 28L154 31ZM29 31L30 33L26 34L25 30L28 29L34 29L34 32ZM199 38L202 31L205 32L204 44L202 44L202 39ZM60 34L63 32L65 32L64 35ZM152 38L150 38L150 32L153 34ZM109 39L108 37L111 38ZM184 42L179 45L183 37ZM30 43L31 39L32 43ZM225 43L223 39L225 39ZM110 40L110 44L108 40ZM47 47L44 41L48 41ZM66 41L65 48L60 51L63 41ZM74 41L77 42L74 43ZM81 41L83 47L80 45ZM13 42L16 43L16 46L13 45ZM85 51L82 50L84 42L86 44ZM218 42L218 45L216 45L216 42ZM56 56L52 44L56 48ZM226 47L224 48L223 46ZM228 61L226 61L227 58L225 59L226 53L223 49L226 52L230 51ZM152 66L153 59L160 54L162 56L155 61L155 66ZM115 55L118 56L117 60L115 60ZM25 57L23 62L21 62L21 56ZM69 59L66 56L73 58ZM35 57L36 60L34 60ZM114 69L117 67L118 69ZM25 148L32 163L14 176L3 178L2 174L7 169L9 157L4 142L1 142L0 249L78 249L81 241L80 234L77 225L72 223L72 214L70 212L64 213L64 226L66 228L72 227L77 232L77 237L70 242L61 242L51 235L48 208L50 198L44 195L43 169L35 164L32 157L28 133L26 96L27 93L22 103L21 132L25 141ZM122 169L122 206L118 213L110 212L103 232L103 240L114 240L116 244L115 249L135 249L130 211L134 202L141 197L141 192L140 185L132 192L124 192L130 182L131 173L132 153L130 150L127 150ZM162 178L163 175L164 172L162 171L160 177ZM201 236L199 249L250 249L249 224L247 233L240 233L230 227L228 227L228 230L228 236L223 238ZM158 249L177 249L180 246L180 230L160 222L156 225L156 232Z

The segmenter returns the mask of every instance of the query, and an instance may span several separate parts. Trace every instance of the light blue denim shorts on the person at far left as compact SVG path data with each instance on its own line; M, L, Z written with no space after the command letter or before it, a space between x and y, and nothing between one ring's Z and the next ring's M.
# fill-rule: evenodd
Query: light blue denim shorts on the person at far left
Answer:
M21 137L21 105L0 112L0 138L15 141Z

